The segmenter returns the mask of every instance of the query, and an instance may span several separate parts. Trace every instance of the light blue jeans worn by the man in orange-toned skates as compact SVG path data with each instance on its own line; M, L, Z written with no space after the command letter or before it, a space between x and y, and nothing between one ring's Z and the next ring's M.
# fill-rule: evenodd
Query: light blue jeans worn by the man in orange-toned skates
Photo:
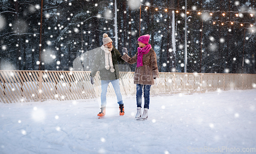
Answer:
M108 90L108 86L109 83L111 82L111 84L114 87L115 93L116 93L116 97L117 97L117 103L123 104L123 99L122 99L122 95L120 92L120 85L119 85L119 79L116 80L101 80L101 107L106 106L106 92Z

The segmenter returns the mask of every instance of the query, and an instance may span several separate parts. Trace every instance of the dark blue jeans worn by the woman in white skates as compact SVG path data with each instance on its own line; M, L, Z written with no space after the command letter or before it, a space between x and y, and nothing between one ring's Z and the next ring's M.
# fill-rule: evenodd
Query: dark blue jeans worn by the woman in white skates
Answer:
M144 85L144 84L137 84L136 85L136 100L137 100L137 107L141 107L142 103L142 89L144 92L144 108L150 109L150 88L151 85Z

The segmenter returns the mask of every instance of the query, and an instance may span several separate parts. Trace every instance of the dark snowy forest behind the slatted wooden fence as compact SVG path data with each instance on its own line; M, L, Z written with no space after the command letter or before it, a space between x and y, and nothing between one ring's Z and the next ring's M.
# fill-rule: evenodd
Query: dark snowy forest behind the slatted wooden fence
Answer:
M187 1L188 73L255 73L255 4ZM41 10L38 0L2 0L0 69L71 70L73 60L100 47L108 33L130 56L137 38L150 34L159 71L184 72L184 7L181 0L119 0L116 6L114 0L44 0Z

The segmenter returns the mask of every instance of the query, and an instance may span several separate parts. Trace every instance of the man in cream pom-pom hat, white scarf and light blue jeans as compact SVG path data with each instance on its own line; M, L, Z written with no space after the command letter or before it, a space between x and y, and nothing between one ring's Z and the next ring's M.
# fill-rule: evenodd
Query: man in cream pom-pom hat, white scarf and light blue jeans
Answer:
M124 115L124 107L122 95L120 92L119 85L119 68L118 63L123 64L125 61L121 58L121 54L112 45L112 39L108 34L103 34L103 45L99 50L95 52L94 67L91 72L91 83L94 84L94 76L97 71L100 74L101 80L101 112L98 114L99 118L105 115L106 107L106 92L108 90L108 85L111 84L114 87L117 103L119 104L119 115Z

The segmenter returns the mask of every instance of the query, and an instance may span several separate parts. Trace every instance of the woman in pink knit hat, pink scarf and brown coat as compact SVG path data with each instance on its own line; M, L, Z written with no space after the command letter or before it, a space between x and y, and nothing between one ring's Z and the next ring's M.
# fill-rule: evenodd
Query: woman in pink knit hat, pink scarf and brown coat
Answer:
M122 50L123 60L130 64L137 62L137 67L134 72L134 84L136 84L137 90L137 114L135 116L137 120L147 119L148 109L150 108L151 85L158 84L159 82L157 56L151 45L148 44L149 40L150 35L148 34L142 35L138 38L138 52L132 58L127 55L128 52L126 48L123 48ZM141 116L142 92L144 92L144 111Z

